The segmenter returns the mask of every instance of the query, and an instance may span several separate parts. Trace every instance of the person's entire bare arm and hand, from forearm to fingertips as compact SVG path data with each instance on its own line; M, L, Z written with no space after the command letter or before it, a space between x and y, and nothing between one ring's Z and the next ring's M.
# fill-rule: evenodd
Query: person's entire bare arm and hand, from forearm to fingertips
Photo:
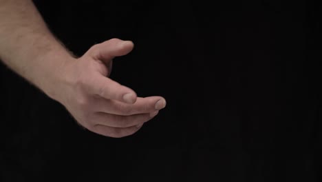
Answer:
M32 1L0 0L0 60L97 134L134 134L166 106L163 97L138 97L109 79L114 57L132 49L131 41L110 39L75 58L48 30Z

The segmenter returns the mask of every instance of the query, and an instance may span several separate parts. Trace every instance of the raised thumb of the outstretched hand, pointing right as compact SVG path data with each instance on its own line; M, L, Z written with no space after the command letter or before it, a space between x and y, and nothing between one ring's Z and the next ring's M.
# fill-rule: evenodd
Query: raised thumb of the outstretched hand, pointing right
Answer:
M85 54L96 60L109 64L114 57L124 56L133 50L132 41L121 39L109 39L103 43L98 43L90 48Z

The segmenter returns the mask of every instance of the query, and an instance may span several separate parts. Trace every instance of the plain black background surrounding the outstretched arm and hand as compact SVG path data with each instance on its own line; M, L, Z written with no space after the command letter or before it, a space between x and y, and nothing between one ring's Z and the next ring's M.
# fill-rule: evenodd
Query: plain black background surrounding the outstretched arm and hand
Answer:
M36 1L81 56L131 40L111 78L167 108L134 134L80 128L5 65L0 181L321 180L316 1Z

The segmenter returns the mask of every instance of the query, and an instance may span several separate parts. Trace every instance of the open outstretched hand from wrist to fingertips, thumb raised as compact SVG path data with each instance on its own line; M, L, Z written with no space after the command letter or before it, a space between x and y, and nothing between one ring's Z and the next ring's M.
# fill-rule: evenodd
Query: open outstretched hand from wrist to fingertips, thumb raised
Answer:
M108 78L112 59L132 49L131 41L111 39L65 66L67 81L56 100L88 130L116 138L129 136L165 107L164 98L137 97L130 88Z

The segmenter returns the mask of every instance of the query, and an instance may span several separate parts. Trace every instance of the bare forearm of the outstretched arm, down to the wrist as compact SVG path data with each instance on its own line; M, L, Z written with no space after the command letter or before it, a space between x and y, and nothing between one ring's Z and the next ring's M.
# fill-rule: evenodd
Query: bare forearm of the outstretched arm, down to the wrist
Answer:
M0 59L54 97L51 85L63 79L59 76L73 57L45 26L31 0L0 0Z

